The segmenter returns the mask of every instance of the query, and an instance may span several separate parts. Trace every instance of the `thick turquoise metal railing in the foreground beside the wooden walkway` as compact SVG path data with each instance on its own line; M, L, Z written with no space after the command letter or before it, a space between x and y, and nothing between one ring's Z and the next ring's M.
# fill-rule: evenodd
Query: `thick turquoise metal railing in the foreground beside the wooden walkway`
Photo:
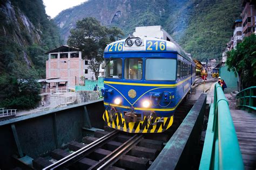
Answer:
M222 88L214 86L199 169L244 169L237 134Z

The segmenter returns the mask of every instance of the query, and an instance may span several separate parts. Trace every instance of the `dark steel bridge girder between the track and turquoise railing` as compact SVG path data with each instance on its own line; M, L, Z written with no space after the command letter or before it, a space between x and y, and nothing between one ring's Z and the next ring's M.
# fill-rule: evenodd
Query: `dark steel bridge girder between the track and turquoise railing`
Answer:
M206 107L206 94L201 94L179 128L167 142L149 169L190 169L194 147L198 144ZM175 116L175 115L174 115ZM175 121L175 119L174 119Z

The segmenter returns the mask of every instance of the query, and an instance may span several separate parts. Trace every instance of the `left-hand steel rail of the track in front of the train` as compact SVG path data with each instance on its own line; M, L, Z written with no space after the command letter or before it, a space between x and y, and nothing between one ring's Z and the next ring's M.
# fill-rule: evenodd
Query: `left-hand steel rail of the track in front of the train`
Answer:
M110 139L115 137L116 134L118 134L118 133L119 133L119 131L112 131L110 133L107 133L102 138L99 138L99 139L93 141L89 145L86 145L85 147L80 148L80 150L71 153L67 157L60 159L59 161L49 165L48 167L45 167L44 170L68 167L68 166L72 165L74 162L83 158L86 154L90 154L91 152L96 150L97 147L104 145L107 141L109 141Z

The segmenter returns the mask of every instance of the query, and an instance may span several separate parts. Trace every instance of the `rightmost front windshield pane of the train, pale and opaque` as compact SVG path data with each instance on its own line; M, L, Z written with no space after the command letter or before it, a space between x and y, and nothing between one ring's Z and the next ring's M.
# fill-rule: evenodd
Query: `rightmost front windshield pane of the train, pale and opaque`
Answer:
M176 60L146 59L146 80L176 80Z

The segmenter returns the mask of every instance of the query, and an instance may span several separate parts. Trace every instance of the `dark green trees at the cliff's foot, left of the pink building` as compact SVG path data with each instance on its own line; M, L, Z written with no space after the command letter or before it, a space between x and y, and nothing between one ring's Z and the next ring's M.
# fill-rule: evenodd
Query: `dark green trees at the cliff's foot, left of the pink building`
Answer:
M33 68L17 64L14 74L0 76L0 108L31 109L38 105L40 85Z

